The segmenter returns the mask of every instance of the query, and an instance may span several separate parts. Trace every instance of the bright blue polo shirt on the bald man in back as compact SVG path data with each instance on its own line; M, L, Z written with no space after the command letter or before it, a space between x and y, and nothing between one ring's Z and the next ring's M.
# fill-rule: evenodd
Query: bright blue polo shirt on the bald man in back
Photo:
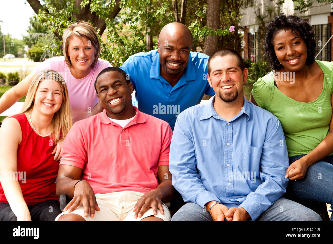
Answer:
M206 78L208 58L190 52L185 72L174 87L160 74L157 49L130 56L120 68L133 83L139 111L168 122L173 130L182 111L199 104L204 94L215 95Z

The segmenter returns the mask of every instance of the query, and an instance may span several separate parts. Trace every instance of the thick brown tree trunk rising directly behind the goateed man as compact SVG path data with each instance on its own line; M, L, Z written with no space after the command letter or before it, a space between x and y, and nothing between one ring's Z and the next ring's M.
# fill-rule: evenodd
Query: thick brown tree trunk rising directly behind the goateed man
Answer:
M220 0L207 0L207 26L214 31L220 26ZM218 36L207 36L203 45L203 52L210 56L216 49Z

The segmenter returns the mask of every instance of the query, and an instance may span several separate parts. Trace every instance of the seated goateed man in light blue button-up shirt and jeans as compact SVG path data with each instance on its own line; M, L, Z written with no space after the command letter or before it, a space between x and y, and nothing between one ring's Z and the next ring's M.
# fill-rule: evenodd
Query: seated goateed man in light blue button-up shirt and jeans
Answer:
M178 116L169 170L189 203L172 220L321 220L281 198L288 184L283 130L276 117L243 97L247 73L236 51L216 51L207 75L216 95Z

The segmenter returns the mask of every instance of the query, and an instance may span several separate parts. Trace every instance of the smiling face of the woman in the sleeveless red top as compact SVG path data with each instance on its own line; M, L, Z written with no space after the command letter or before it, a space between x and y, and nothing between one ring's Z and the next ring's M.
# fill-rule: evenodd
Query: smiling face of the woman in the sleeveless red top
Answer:
M44 115L53 115L60 109L63 98L62 89L57 81L43 80L36 90L34 108Z

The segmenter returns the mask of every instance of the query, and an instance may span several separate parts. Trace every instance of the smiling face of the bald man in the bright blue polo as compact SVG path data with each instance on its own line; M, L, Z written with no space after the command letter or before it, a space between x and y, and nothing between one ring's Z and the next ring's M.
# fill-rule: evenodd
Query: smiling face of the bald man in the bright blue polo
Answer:
M182 75L187 66L192 38L177 28L161 31L158 41L161 74Z

